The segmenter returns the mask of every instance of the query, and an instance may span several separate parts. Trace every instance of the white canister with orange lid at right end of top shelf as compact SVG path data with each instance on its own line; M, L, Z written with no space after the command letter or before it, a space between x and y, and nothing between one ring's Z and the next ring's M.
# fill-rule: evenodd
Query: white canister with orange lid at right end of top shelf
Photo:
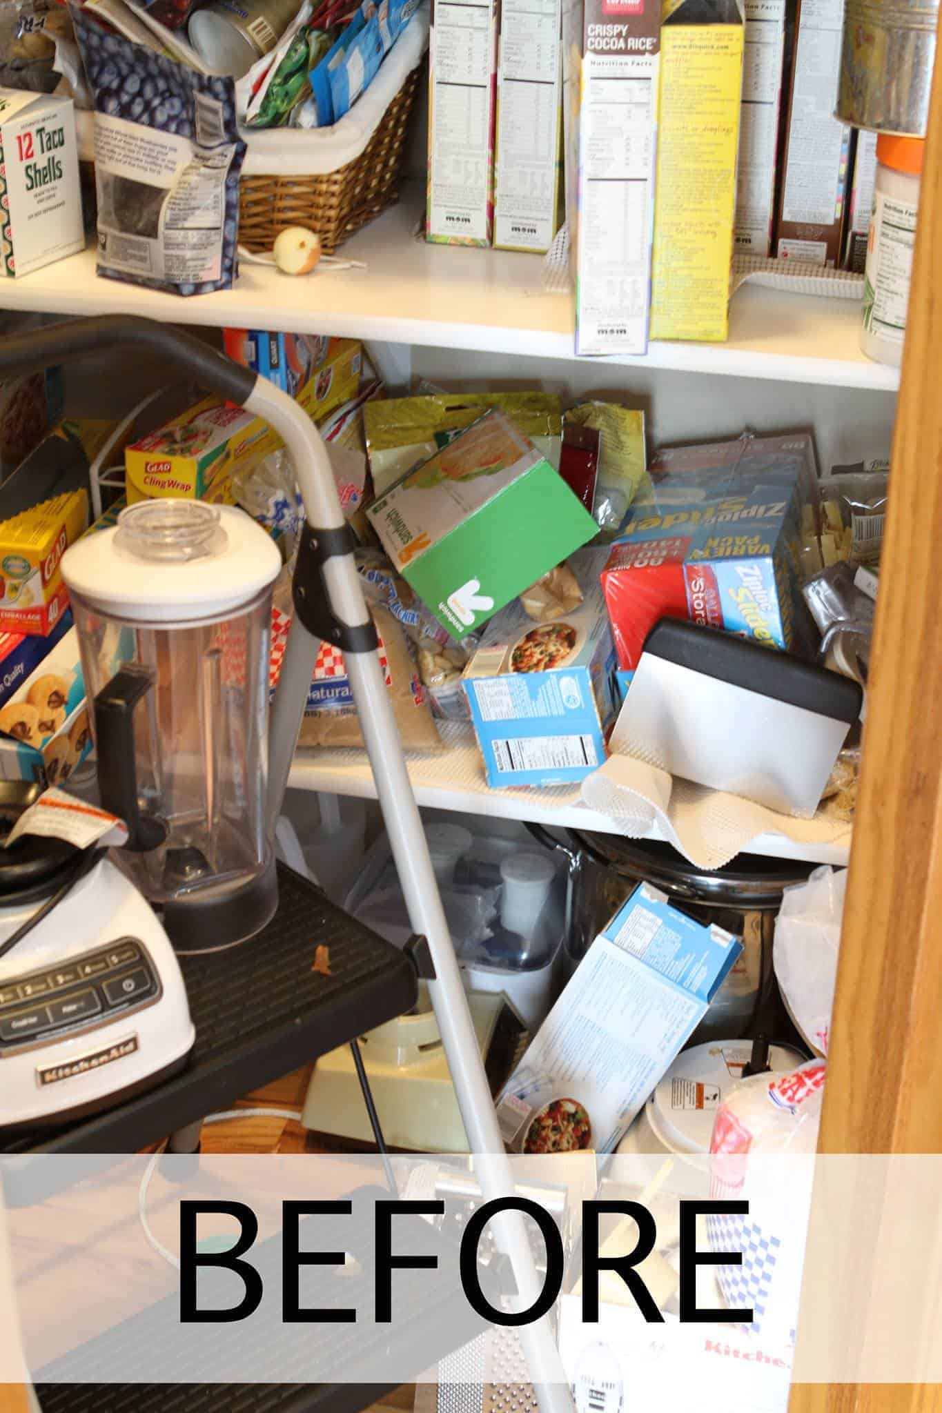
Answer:
M895 367L902 362L924 148L918 137L877 138L860 348Z

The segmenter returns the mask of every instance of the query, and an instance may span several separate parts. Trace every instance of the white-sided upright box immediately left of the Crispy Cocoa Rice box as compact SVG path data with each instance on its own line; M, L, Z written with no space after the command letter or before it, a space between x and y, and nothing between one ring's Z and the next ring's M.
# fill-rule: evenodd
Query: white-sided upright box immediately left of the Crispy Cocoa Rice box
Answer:
M542 254L559 227L561 0L503 0L494 246Z

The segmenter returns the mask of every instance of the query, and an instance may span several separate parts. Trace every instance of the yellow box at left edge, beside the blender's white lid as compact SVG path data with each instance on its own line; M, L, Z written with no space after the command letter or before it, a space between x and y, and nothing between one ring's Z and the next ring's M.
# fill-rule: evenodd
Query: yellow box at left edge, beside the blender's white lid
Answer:
M88 519L88 492L72 490L0 524L0 632L51 632L69 602L59 561Z

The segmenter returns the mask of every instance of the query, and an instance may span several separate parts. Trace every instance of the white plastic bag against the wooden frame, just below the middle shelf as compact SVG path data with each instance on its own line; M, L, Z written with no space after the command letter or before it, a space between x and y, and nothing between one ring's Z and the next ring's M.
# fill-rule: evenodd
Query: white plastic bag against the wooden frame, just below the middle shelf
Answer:
M812 1050L828 1054L837 975L846 869L815 869L785 889L775 921L773 962L785 1006Z

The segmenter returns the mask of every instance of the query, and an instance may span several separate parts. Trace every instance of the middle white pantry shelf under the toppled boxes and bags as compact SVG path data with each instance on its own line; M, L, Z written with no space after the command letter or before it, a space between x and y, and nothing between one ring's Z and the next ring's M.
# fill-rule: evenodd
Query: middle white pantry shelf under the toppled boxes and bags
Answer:
M405 753L412 790L421 805L500 820L532 820L562 828L619 832L607 815L588 810L580 803L579 786L490 790L470 728L449 722L443 725L442 735L446 750L438 755L419 750ZM298 750L288 784L295 790L323 790L328 794L376 800L376 783L364 750ZM650 838L658 835L652 834ZM808 851L781 835L764 834L750 845L749 852L846 868L850 851L835 845Z

